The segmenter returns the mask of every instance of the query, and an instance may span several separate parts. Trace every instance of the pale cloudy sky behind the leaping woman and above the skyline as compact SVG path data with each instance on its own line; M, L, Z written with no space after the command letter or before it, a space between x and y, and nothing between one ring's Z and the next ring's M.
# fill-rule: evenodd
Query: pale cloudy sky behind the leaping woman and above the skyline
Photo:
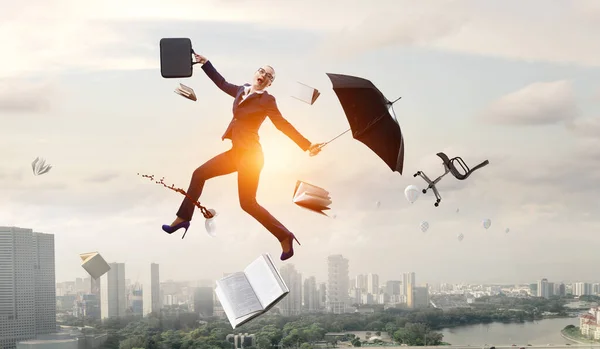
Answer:
M0 0L0 225L54 234L57 281L86 276L79 254L89 251L126 263L132 282L147 282L152 262L163 280L215 280L261 253L318 281L334 254L350 277L598 281L598 2L373 2ZM233 102L198 66L161 77L169 37L190 38L232 83L272 65L270 93L312 143L349 128L325 73L402 97L404 173L350 133L310 157L267 119L257 199L300 240L295 256L280 262L278 241L241 210L235 174L209 180L201 198L219 213L216 237L198 211L184 240L164 233L183 197L137 174L187 188L230 148L221 135ZM321 92L314 105L291 97L297 82ZM179 83L198 101L173 93ZM439 207L433 193L409 203L404 188L425 184L416 171L443 172L440 151L490 164L444 177ZM34 176L38 156L53 168ZM295 206L297 180L327 189L335 218Z

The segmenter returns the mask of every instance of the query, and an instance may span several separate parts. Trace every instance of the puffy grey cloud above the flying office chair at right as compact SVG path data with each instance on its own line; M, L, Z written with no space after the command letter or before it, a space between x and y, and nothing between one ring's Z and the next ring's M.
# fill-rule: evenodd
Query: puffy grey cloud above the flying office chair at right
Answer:
M569 81L536 82L492 102L482 113L504 125L549 125L572 121L579 115Z

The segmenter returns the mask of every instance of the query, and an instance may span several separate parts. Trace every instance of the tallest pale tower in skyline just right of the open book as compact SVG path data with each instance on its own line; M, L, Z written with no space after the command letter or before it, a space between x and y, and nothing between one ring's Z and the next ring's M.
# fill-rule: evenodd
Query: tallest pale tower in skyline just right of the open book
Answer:
M327 258L327 310L342 314L349 303L349 262L341 254Z

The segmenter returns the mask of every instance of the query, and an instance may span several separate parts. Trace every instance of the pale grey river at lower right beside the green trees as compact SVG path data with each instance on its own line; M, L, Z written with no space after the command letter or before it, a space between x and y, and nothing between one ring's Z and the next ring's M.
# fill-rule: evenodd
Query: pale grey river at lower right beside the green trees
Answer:
M469 325L441 330L444 342L452 345L566 344L560 331L567 325L579 326L579 318L543 319L525 323Z

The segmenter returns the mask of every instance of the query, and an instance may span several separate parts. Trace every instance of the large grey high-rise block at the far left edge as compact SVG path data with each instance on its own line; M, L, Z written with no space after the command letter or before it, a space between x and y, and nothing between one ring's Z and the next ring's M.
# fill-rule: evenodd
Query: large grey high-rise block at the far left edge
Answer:
M0 348L56 331L54 235L0 227Z

